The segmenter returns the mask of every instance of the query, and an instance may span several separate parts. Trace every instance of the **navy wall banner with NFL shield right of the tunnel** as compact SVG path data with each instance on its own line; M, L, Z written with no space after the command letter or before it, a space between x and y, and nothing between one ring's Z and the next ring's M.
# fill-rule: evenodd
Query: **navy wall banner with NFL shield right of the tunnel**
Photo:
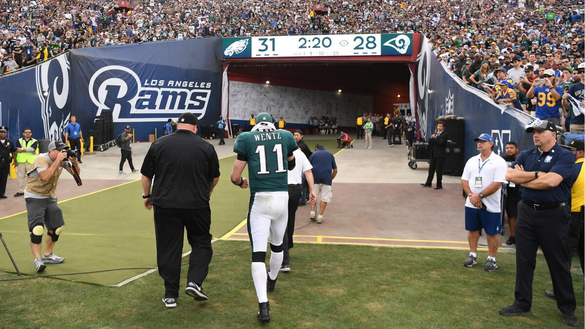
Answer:
M441 115L461 116L465 120L464 159L477 155L474 138L489 133L495 140L494 152L505 155L505 145L514 141L521 150L534 147L525 125L532 116L508 105L496 105L485 92L470 87L439 62L430 44L422 42L417 63L416 106L421 135L429 140L435 119Z

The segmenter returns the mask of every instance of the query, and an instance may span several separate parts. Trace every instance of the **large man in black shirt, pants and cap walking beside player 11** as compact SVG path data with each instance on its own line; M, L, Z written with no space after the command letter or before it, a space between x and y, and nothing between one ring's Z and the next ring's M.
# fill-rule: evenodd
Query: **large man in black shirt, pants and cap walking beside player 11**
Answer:
M201 285L213 253L209 197L219 181L217 153L197 136L197 116L181 114L177 128L150 145L140 170L144 207L150 210L154 206L156 256L166 307L177 306L185 228L191 245L185 293L195 300L208 300Z

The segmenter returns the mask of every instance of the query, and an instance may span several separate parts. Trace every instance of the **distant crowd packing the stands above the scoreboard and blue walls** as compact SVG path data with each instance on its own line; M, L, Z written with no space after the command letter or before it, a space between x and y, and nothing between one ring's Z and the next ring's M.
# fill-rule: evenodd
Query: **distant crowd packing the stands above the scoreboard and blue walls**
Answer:
M73 48L156 40L386 32L422 32L446 60L477 53L490 61L526 57L534 66L550 53L575 63L583 54L581 1L524 1L330 0L317 8L303 0L135 0L130 10L112 0L2 0L2 66L13 71ZM462 65L454 67L462 76Z

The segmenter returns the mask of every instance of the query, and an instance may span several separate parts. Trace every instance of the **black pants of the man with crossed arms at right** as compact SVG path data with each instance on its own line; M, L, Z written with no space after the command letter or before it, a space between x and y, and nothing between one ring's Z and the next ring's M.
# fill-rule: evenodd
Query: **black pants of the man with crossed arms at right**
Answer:
M516 220L516 287L514 306L532 307L532 280L536 251L540 246L549 267L556 306L562 313L573 313L576 306L569 268L570 207L534 210L520 201Z

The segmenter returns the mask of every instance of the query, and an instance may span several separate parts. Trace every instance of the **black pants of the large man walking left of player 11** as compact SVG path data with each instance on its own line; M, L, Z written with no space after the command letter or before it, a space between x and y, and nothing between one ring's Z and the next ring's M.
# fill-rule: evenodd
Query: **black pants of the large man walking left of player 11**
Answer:
M207 273L213 251L211 249L211 209L170 209L154 207L156 234L156 261L159 275L164 280L164 297L177 298L181 279L183 234L191 246L187 282L201 286Z

